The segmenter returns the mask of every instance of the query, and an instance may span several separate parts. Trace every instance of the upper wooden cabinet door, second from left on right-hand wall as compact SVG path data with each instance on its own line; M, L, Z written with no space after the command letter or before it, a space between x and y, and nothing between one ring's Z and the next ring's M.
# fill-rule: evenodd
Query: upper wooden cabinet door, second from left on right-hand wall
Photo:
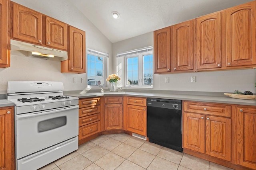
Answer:
M173 26L173 70L193 70L194 20Z

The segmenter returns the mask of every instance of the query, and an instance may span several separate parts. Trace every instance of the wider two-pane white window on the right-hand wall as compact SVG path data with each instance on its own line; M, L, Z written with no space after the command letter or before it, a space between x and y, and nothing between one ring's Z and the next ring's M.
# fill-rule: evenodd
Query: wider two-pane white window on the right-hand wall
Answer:
M125 86L146 87L153 85L152 47L120 53L124 57Z

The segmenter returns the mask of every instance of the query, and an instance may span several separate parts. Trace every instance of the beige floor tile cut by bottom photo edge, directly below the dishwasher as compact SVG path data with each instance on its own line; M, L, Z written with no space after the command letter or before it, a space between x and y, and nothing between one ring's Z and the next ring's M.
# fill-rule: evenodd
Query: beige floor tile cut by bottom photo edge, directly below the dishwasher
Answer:
M148 166L147 170L177 170L178 166L178 164L174 164L173 162L156 156L156 158Z

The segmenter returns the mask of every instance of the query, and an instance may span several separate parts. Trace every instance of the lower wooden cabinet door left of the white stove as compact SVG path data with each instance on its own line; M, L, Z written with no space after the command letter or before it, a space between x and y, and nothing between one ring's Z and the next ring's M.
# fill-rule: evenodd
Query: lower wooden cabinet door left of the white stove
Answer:
M14 169L13 109L0 109L0 170Z

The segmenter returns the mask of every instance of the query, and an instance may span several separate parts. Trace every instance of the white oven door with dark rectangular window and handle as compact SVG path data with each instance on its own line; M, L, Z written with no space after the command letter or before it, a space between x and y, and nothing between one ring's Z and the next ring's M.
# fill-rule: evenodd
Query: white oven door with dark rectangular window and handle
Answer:
M16 115L16 158L78 136L78 106Z

